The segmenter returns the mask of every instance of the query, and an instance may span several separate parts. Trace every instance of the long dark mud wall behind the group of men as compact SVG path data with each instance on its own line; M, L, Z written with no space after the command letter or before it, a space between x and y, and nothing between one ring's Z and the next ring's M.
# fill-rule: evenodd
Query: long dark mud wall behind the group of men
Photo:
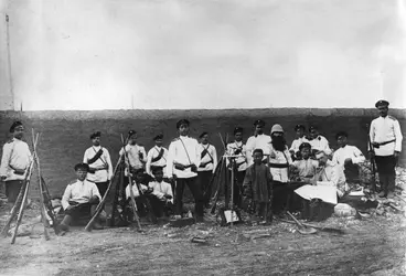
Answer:
M406 110L393 109L391 114L398 118L406 137ZM228 134L232 139L235 126L245 129L244 140L253 130L253 121L264 119L266 132L273 124L281 124L289 144L295 138L296 124L319 126L332 148L335 147L334 135L339 130L350 134L349 144L355 145L363 152L366 151L366 124L376 117L375 109L223 109L223 110L104 110L104 112L15 112L0 113L0 142L3 145L10 137L9 127L14 119L21 118L26 126L25 139L31 147L31 129L41 132L39 156L42 173L49 183L51 193L61 194L66 184L75 179L73 166L82 161L84 151L89 147L89 134L95 130L103 132L101 144L111 155L113 163L118 159L120 134L135 129L139 134L139 142L148 150L153 146L152 137L158 132L164 134L164 146L177 136L175 121L189 118L191 136L197 137L202 131L211 134L211 142L217 152L223 152L218 132L223 137ZM403 142L406 150L406 139ZM0 151L2 148L0 149ZM399 164L406 166L403 152ZM36 181L36 177L33 178ZM35 183L35 182L33 182ZM35 185L34 185L35 187ZM34 197L36 188L32 189Z

